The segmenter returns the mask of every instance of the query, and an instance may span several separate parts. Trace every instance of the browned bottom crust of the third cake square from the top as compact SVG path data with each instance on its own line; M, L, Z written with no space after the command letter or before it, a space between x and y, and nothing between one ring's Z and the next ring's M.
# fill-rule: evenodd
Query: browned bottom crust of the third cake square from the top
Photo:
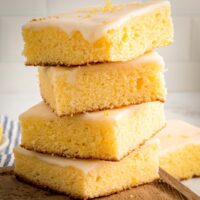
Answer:
M151 138L153 138L154 136L156 136L163 128L166 127L166 123L165 125L160 128L159 130L157 130L155 133L153 133L149 138L144 139L140 144L138 144L136 147L134 147L133 149L130 149L125 155L123 155L121 158L117 159L117 158L101 158L101 157L93 157L93 156L73 156L73 155L69 155L69 154L63 154L63 153L55 153L55 152L49 152L49 151L43 151L43 150L38 150L36 148L31 148L31 147L27 147L26 145L20 145L21 147L30 150L30 151L35 151L38 153L42 153L42 154L48 154L48 155L52 155L52 156L59 156L59 157L63 157L63 158L77 158L77 159L90 159L90 160L104 160L104 161L112 161L112 162L119 162L122 159L124 159L125 157L127 157L128 155L130 155L132 152L134 151L138 151L139 149L142 148L142 146Z

